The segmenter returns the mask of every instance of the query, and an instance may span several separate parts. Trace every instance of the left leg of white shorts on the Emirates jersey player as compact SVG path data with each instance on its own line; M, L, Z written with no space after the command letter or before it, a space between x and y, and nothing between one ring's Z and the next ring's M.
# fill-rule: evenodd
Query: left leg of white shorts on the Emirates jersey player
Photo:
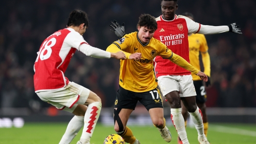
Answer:
M163 75L158 77L158 85L163 96L172 91L179 91L178 75Z

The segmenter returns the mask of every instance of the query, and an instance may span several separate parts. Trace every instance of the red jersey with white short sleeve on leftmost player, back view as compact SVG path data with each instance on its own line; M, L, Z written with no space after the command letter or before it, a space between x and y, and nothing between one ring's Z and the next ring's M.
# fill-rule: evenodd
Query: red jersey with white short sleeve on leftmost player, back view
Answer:
M54 90L68 84L64 73L82 43L86 41L71 28L56 31L45 39L34 63L35 92Z

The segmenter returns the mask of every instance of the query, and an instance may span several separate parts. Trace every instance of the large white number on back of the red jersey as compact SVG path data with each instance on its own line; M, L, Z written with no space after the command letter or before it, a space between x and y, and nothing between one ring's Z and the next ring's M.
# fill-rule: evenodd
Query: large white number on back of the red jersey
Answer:
M46 59L50 58L50 55L51 55L51 52L52 52L51 47L54 46L55 44L56 44L56 39L55 38L51 38L49 41L45 41L45 43L43 43L42 48L40 48L40 51L38 53L38 56L37 56L35 62L38 61L38 58L40 58L41 60L46 60ZM44 54L45 51L47 51L46 54Z

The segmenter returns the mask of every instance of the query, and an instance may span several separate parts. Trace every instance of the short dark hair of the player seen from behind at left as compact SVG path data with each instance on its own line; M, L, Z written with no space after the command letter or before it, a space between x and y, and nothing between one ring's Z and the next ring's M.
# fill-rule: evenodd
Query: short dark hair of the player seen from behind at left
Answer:
M67 21L67 27L70 26L80 26L80 24L83 24L86 26L86 28L89 27L89 19L87 17L87 14L82 10L74 10L69 14L68 21Z

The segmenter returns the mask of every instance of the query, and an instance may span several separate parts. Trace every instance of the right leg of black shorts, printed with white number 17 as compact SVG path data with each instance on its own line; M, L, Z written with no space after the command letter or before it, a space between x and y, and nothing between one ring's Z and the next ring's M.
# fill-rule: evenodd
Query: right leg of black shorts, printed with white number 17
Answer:
M148 111L151 108L163 108L160 90L157 87L150 91L136 93L136 97Z

